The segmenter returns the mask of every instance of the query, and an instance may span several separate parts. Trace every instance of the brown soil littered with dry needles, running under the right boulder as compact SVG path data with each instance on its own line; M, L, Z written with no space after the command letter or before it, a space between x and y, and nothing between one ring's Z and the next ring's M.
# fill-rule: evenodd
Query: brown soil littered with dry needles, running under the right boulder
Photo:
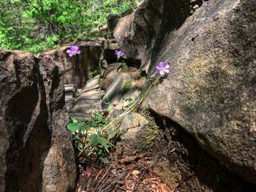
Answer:
M176 123L156 114L148 115L154 117L151 126L160 128L159 137L148 148L122 145L108 156L110 164L79 158L77 192L256 191L256 185L229 172Z

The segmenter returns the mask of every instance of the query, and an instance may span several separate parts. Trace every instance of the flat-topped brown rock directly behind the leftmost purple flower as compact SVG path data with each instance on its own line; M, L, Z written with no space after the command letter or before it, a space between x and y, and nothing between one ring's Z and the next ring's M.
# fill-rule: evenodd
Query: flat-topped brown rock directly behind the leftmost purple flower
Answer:
M61 47L59 50L48 50L39 55L39 57L53 58L54 61L60 62L65 70L64 83L73 84L72 65L75 64L75 85L83 88L89 74L99 67L99 57L102 53L102 42L78 42L75 43L81 53L69 58L66 51L70 45Z

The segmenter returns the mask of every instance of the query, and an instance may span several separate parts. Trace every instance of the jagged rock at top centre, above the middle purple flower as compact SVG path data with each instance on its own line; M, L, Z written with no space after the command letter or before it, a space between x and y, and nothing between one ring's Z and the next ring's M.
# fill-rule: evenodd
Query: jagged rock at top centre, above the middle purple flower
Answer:
M121 18L114 37L128 58L141 61L141 69L148 70L151 53L161 25L164 0L144 0L130 15Z

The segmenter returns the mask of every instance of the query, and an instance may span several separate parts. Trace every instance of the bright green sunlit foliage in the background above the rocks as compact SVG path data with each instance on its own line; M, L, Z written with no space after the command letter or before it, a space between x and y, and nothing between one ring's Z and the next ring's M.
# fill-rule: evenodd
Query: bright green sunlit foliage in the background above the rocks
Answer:
M0 48L39 53L67 42L94 39L109 14L138 0L2 0Z

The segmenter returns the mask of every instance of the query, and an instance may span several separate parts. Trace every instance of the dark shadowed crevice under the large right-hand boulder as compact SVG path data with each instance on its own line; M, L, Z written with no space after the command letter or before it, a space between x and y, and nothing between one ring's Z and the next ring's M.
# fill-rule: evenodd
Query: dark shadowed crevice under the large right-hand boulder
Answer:
M255 191L255 185L244 181L238 174L233 174L220 164L217 158L197 144L185 128L154 111L150 115L163 131L163 140L157 145L162 151L167 148L165 157L168 162L164 167L168 167L169 174L176 173L173 177L167 177L168 172L165 170L162 175L163 179L168 178L164 179L165 182L173 183L175 177L179 177L176 180L178 191ZM159 162L157 166L163 165Z

